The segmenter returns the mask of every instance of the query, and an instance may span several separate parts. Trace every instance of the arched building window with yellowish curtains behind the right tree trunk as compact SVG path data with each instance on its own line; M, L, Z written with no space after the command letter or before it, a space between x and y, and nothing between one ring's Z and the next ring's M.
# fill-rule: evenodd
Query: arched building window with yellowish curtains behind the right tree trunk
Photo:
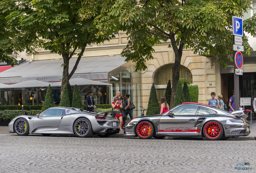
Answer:
M165 95L165 90L169 79L171 80L172 84L173 68L174 64L167 64L159 68L159 70L157 70L155 73L154 83L157 91L158 101L160 101L160 98ZM190 83L192 83L192 74L190 70L183 65L180 65L180 78L186 78Z

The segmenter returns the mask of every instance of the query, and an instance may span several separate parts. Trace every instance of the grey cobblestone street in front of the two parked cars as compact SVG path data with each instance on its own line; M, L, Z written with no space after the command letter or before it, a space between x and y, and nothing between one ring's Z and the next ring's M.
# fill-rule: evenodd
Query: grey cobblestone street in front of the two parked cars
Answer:
M256 170L256 141L0 134L0 172L170 173ZM247 161L250 165L239 166ZM237 165L238 164L238 165Z

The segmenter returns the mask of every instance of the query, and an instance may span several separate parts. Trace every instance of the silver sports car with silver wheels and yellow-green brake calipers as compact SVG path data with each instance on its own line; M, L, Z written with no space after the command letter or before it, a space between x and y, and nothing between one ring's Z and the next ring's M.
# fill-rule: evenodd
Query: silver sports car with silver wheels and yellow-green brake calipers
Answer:
M93 113L83 109L52 107L36 116L20 115L9 123L9 132L18 135L75 134L89 137L92 134L107 137L119 133L119 121L114 116L117 111Z

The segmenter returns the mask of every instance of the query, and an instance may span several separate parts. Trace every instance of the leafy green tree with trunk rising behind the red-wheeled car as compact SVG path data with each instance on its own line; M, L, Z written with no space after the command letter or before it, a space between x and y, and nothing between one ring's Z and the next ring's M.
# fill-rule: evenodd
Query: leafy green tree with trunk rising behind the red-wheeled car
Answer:
M113 28L127 31L128 45L122 51L126 61L136 63L136 69L145 70L146 60L153 59L153 46L170 40L175 54L172 94L173 106L180 78L180 62L184 49L208 56L213 62L226 67L233 61L232 16L243 16L251 8L248 0L115 0L114 5L103 2L105 12L97 16L97 28L105 35ZM244 21L245 31L256 35L256 18ZM110 28L110 29L109 29ZM244 53L252 48L243 36Z

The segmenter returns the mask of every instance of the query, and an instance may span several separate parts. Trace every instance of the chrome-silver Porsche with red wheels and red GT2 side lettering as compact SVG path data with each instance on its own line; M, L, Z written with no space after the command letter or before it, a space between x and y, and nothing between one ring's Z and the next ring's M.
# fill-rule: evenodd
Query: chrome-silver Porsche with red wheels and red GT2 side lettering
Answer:
M163 115L143 116L125 125L124 135L141 139L165 136L200 137L219 140L228 137L248 136L250 124L245 111L229 113L201 103L183 103Z

